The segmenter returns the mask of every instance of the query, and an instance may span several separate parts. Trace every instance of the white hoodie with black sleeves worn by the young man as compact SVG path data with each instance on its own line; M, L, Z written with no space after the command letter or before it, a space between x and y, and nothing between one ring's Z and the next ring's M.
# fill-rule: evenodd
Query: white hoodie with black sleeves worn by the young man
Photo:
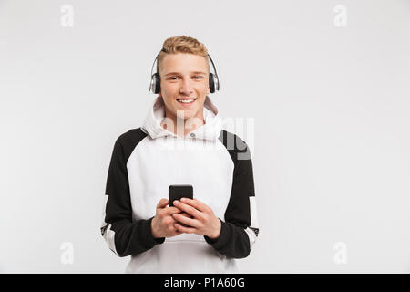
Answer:
M251 151L222 129L208 96L203 110L205 123L182 138L161 126L165 105L158 97L143 126L115 141L101 235L116 255L131 256L126 273L236 273L235 259L250 255L259 233ZM193 197L220 219L218 238L153 237L157 203L171 184L193 186Z

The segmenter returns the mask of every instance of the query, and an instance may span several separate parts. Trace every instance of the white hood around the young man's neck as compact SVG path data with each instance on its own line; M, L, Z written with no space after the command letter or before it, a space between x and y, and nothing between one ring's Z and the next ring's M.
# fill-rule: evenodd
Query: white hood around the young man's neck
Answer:
M152 106L149 108L149 113L144 120L141 130L149 135L152 139L164 136L172 136L179 138L173 132L162 128L161 123L165 118L165 104L161 97L154 99ZM203 107L203 118L205 124L199 128L190 131L184 138L191 138L191 134L195 134L196 139L215 141L220 137L222 130L222 120L220 118L218 108L212 103L209 96L206 96Z

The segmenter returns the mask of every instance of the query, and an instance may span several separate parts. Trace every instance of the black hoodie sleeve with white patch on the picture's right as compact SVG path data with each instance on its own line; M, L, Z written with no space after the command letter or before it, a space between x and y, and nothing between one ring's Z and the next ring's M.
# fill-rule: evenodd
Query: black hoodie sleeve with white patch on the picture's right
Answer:
M238 136L225 130L220 140L227 147L234 163L231 198L225 212L225 222L220 220L220 237L204 237L221 255L243 258L250 255L259 234L251 151Z

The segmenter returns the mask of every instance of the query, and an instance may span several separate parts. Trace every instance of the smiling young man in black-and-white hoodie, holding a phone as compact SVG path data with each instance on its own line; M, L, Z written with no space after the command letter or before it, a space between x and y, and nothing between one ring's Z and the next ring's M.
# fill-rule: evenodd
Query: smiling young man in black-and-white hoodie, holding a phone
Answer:
M101 234L131 255L128 273L233 273L258 235L250 150L221 128L208 56L195 38L168 38L144 125L115 142ZM171 184L191 184L193 200L169 206Z

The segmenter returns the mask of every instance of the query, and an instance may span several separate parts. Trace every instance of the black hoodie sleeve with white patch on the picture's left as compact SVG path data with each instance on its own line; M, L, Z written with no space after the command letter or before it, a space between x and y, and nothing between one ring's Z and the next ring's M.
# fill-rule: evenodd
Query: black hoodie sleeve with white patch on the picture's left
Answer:
M125 136L127 135L127 136ZM115 142L108 168L105 211L101 225L101 235L108 247L118 256L137 255L149 250L165 240L154 238L151 220L132 220L129 195L127 160L138 141L143 138L140 131L128 131Z

